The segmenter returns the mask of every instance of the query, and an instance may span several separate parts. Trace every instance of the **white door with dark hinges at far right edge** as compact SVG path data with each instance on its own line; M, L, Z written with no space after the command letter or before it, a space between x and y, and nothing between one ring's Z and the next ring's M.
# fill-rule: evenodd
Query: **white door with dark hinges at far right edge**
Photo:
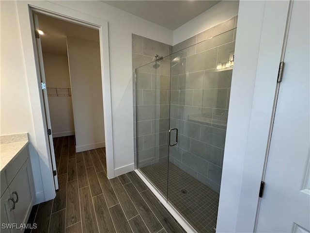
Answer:
M309 15L293 2L256 232L310 232Z

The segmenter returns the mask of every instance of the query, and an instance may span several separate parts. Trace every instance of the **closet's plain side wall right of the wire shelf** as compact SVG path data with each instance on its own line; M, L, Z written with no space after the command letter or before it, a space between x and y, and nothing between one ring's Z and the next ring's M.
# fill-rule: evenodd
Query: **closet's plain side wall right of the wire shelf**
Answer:
M68 36L67 49L77 152L104 147L100 45Z

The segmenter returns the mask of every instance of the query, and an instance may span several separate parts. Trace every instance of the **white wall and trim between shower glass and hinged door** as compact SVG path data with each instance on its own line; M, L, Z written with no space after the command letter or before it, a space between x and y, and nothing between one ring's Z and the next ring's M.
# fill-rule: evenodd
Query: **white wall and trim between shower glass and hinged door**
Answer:
M288 6L240 1L217 232L254 230Z

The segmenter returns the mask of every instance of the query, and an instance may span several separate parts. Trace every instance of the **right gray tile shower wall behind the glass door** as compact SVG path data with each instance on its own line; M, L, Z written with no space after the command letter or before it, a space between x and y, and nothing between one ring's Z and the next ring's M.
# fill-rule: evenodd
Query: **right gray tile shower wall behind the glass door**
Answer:
M170 162L217 192L233 71L217 64L225 66L234 51L236 21L233 17L172 48L170 117L179 143L170 148Z

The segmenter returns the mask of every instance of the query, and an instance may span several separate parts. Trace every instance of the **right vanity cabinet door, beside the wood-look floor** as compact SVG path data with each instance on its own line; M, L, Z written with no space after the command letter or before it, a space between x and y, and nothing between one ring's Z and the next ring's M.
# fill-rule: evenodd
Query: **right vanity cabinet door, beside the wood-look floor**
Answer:
M18 226L22 223L27 223L27 218L31 211L33 199L31 179L31 167L29 160L27 160L8 188L11 197L16 201L14 216Z

